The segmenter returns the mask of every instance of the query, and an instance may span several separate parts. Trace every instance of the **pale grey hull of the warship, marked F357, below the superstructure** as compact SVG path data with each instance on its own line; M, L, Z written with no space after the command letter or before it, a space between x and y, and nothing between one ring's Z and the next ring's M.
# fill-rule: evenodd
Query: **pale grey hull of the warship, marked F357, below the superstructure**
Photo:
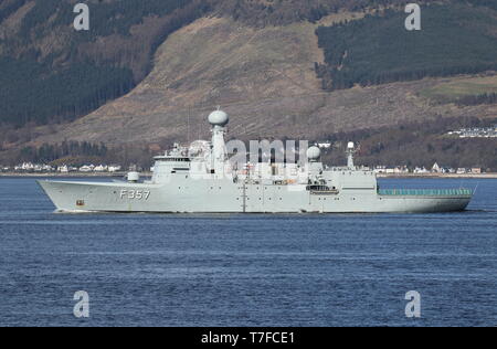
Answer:
M311 192L306 186L39 181L60 212L150 213L425 213L463 211L467 190Z

